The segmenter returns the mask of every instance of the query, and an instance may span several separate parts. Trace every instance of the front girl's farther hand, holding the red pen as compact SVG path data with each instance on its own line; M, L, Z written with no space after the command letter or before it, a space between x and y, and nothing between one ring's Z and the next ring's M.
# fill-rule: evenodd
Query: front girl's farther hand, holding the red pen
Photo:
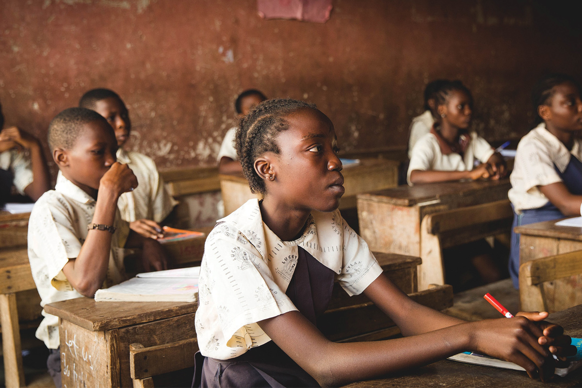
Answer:
M517 315L525 316L542 330L542 335L538 338L538 343L548 347L549 351L560 357L562 361L566 356L576 354L576 346L572 345L570 336L564 334L562 326L544 321L548 316L547 312L518 312Z

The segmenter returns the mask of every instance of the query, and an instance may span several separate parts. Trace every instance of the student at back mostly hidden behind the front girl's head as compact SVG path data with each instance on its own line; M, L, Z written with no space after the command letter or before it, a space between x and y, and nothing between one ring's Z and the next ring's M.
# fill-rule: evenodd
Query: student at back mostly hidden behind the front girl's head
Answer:
M238 113L239 119L243 116L246 116L250 109L253 108L253 106L260 104L261 102L265 101L265 99L267 99L267 97L265 97L262 92L256 89L245 90L239 94L239 97L237 97L235 101L235 109L236 113ZM236 157L236 150L234 145L235 131L236 127L232 127L226 132L222 140L221 147L218 151L218 172L221 174L230 174L242 171L240 162Z

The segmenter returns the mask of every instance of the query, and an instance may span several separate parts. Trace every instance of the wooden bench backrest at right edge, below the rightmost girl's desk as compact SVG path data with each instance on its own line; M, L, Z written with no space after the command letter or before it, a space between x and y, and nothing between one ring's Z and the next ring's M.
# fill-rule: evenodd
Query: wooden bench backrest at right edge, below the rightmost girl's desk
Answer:
M524 262L519 267L519 296L526 311L555 312L561 307L579 305L580 287L564 289L555 280L582 274L582 251ZM576 279L576 278L574 278Z

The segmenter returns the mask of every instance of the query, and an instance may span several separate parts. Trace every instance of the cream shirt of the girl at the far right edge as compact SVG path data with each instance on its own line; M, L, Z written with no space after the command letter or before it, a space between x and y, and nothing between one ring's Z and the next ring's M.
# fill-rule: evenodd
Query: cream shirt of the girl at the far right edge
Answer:
M561 182L562 178L554 165L560 172L564 172L572 155L582 161L582 141L574 138L570 151L549 133L545 123L521 138L517 145L513 172L509 176L512 188L508 193L517 213L525 209L541 208L549 202L539 186Z

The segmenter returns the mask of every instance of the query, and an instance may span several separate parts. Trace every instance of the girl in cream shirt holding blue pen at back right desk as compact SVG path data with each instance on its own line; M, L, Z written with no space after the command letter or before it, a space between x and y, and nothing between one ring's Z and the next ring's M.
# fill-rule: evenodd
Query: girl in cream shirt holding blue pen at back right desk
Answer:
M434 97L435 123L412 149L408 183L504 177L502 156L484 138L468 131L473 109L469 89L460 81L448 81L435 91ZM475 160L481 162L477 168L473 168Z

